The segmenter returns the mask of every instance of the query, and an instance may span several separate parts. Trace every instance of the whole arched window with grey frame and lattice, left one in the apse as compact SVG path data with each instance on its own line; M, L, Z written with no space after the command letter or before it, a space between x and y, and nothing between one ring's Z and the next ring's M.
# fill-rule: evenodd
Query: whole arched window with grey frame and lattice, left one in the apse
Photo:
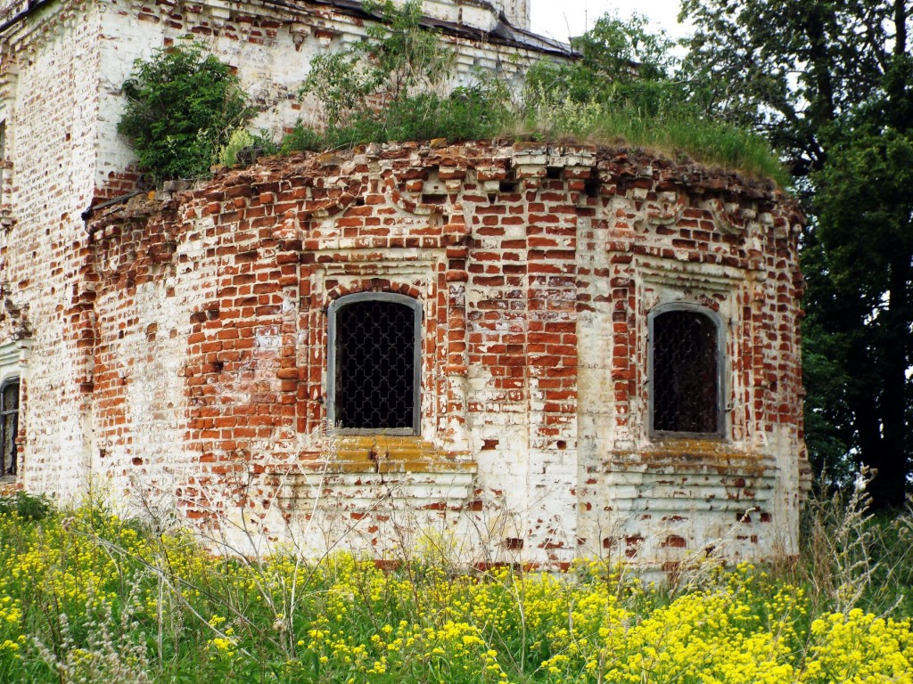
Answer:
M336 299L328 315L331 427L419 434L421 304L405 295L364 292Z

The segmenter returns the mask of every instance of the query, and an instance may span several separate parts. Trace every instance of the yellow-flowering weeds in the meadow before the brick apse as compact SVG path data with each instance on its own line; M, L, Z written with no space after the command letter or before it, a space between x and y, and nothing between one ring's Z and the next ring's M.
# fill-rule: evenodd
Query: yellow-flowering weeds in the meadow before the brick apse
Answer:
M391 484L388 494L394 503L400 503L394 490ZM827 512L834 513L826 519L833 527L825 529L853 528L845 518L855 513L846 513L842 507L827 509ZM417 551L414 553L412 548L404 548L404 563L414 564L411 568L402 566L398 572L389 573L369 560L358 561L345 554L321 560L313 584L303 586L296 585L294 578L288 575L305 573L302 567L281 555L282 548L261 545L258 547L261 554L273 550L279 557L272 563L264 561L259 568L260 575L251 565L226 559L238 579L249 587L245 593L235 590L239 585L235 583L234 572L225 582L220 582L220 559L214 556L198 559L200 547L195 544L182 546L181 535L166 536L160 545L156 544L154 534L144 534L142 543L137 544L137 548L143 550L127 555L128 545L136 539L135 529L116 517L110 516L106 521L103 516L103 512L91 511L89 515L85 511L74 512L72 522L63 526L60 518L48 523L68 532L82 529L98 533L55 537L59 539L58 553L53 556L66 556L70 563L77 557L91 556L100 559L104 567L110 567L104 575L110 581L98 585L98 596L103 596L101 592L105 591L101 587L110 587L113 593L110 601L116 602L110 606L120 610L117 606L123 602L121 619L106 617L104 607L98 602L89 602L88 620L78 622L76 617L61 618L63 611L54 614L56 633L47 628L37 630L40 634L37 638L46 648L36 662L39 665L42 661L47 662L51 668L41 669L40 673L33 670L42 681L133 684L149 681L143 678L152 679L154 674L155 681L164 682L169 678L180 679L182 672L197 670L201 678L208 676L206 681L268 681L274 672L277 678L282 677L279 672L283 667L292 669L289 681L335 682L353 677L356 681L367 681L375 680L374 676L381 674L374 671L373 665L383 654L389 658L385 679L401 680L404 684L441 680L453 684L499 681L498 672L503 672L504 679L509 681L590 684L615 681L685 684L703 679L739 684L755 684L762 680L771 681L771 684L794 684L797 681L849 681L856 675L860 681L908 680L902 669L904 666L897 665L898 661L906 662L904 658L908 660L913 652L909 650L913 648L913 641L910 640L908 620L895 617L894 620L880 620L878 624L875 615L866 615L863 610L843 614L825 608L820 613L809 614L802 586L783 584L763 569L754 569L747 564L729 574L722 571L716 560L712 564L700 562L704 565L696 561L696 567L686 568L681 576L681 586L691 586L693 591L671 596L665 590L646 589L636 582L617 584L620 581L618 571L598 558L567 575L521 574L516 569L497 567L482 576L454 576L449 571L465 561L460 555L464 549L446 544L446 539L432 537L438 545L430 558ZM415 520L397 517L395 523L400 529L393 534L401 535L408 542L411 538L408 528ZM905 518L897 526L908 529L910 524L911 519ZM7 525L7 532L15 533L17 529ZM250 525L249 529L255 534L255 525ZM881 536L875 534L879 529L885 531ZM872 544L887 544L893 538L894 530L889 526L873 527L870 530ZM105 549L96 549L93 545L96 537L121 541ZM827 537L832 544L834 538L836 534ZM87 544L87 540L92 544ZM237 544L237 540L234 541ZM237 545L243 545L243 540ZM163 549L168 552L168 561ZM454 553L456 557L448 555ZM898 566L902 567L897 572L903 572L906 567L897 562L897 556L876 565L873 559L878 557L877 550L868 548L868 553L867 565L858 565L857 559L851 558L846 567L875 568L880 573L893 573ZM397 554L401 557L398 550ZM157 565L158 574L137 562L136 555ZM46 563L50 557L45 556ZM112 557L116 563L109 560ZM124 563L127 557L129 564ZM171 562L173 566L169 565ZM253 563L250 559L248 562ZM47 563L52 573L57 570L52 567L55 563ZM7 567L12 570L16 565ZM173 580L173 584L178 585L177 590L168 583L168 574L173 574L174 568L180 575ZM833 567L819 570L822 575L831 573L832 586L839 586ZM127 578L126 585L118 572ZM285 584L279 581L280 575L285 576ZM413 581L421 584L418 591L423 595L420 606L410 600L415 591L404 585L407 577L413 577ZM874 584L877 585L881 577L874 576ZM181 578L188 581L184 583ZM302 578L303 575L299 577L299 583ZM212 584L211 579L215 580ZM51 617L52 605L68 606L70 616L85 615L86 611L68 599L68 594L52 577L51 580L47 581L45 617ZM312 621L315 630L322 632L322 636L312 637L308 648L299 648L299 657L293 662L286 660L281 648L281 642L287 640L285 634L278 634L268 606L261 602L254 586L248 584L250 581L259 582L271 591L273 605L278 607L289 605L292 586L295 586L297 619ZM123 586L128 588L126 597L120 593ZM196 596L192 586L209 587L209 592ZM673 590L679 592L681 588L673 587ZM403 593L394 593L397 591ZM209 596L215 596L215 601ZM312 600L299 603L301 596ZM360 600L362 596L364 601ZM186 610L182 599L192 601L197 612ZM54 604L56 600L58 603ZM171 605L166 604L169 601ZM867 606L870 601L870 596L864 596L862 605ZM367 605L369 602L372 606ZM224 605L235 607L257 624L239 625L239 620L229 615L228 619L234 620L234 631L226 627L215 631L210 625L196 628L198 620L213 612L222 617L211 618L211 624L223 625L226 613L221 606ZM139 622L130 616L131 610L136 611ZM32 611L34 617L42 617L37 606L33 605ZM183 615L188 624L193 625L194 633L202 635L201 640L205 641L210 634L225 635L219 638L232 641L231 655L225 655L229 648L212 643L215 641L212 639L209 643L185 643L181 655L175 652L173 663L163 662L163 658L168 658L169 639L181 640L182 630L178 624L181 618L174 618L175 614ZM170 617L177 622L166 624ZM142 628L150 631L149 648L146 649L146 639L140 638L144 654L131 659L131 649L137 648L135 637L141 629L133 626L141 622ZM36 623L33 619L32 624ZM81 636L87 626L88 639ZM0 627L5 627L3 619L0 619ZM153 645L153 628L164 634L164 655L162 647ZM448 632L446 637L444 632ZM74 637L74 633L79 636ZM264 633L274 637L274 641L263 639ZM404 648L410 637L415 638L412 650ZM452 658L456 651L450 649L462 647L467 643L464 639L473 640L474 646L462 651L462 657L466 659L459 662ZM394 648L388 650L389 646ZM240 647L247 647L247 652L254 654L253 659ZM37 650L37 645L34 648ZM160 658L157 667L151 662L156 648L159 648ZM347 658L356 649L362 656L353 664ZM490 656L493 671L489 676L485 666L492 650L495 655ZM0 652L0 657L2 655ZM187 659L188 656L191 659ZM480 660L482 665L477 667ZM467 678L462 675L462 670L466 669L462 667L464 665L477 667L477 670ZM3 667L0 661L0 668ZM818 668L817 674L814 668ZM0 681L5 680L4 674L0 669ZM298 679L294 679L295 675ZM381 679L384 678L377 680Z

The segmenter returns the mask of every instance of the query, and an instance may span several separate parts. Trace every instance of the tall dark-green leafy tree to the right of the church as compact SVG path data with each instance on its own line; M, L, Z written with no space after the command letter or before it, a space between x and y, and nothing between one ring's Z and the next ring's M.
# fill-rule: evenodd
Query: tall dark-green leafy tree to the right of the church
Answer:
M761 130L810 214L803 240L813 461L879 474L903 503L913 450L911 0L685 0L692 98Z

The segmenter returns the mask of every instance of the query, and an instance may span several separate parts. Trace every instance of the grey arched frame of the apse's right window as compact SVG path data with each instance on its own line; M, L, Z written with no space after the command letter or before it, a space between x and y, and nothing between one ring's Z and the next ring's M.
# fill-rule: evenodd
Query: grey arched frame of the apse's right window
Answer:
M717 329L717 429L712 432L686 432L686 431L677 431L677 430L654 430L653 422L655 416L655 392L654 392L654 378L656 378L656 369L654 368L654 342L656 340L656 334L654 326L656 323L656 318L662 316L663 314L668 314L674 311L686 311L689 313L697 314L698 316L706 316L710 322ZM690 302L670 302L668 304L663 304L660 306L654 307L649 315L647 316L647 339L646 339L646 348L647 348L647 436L651 439L700 439L700 440L709 440L709 439L725 439L726 430L727 430L727 420L726 420L726 396L727 396L727 383L726 383L726 367L727 367L727 356L726 356L726 326L722 316L714 311L713 309L708 308L707 306L700 306L697 304L691 304Z

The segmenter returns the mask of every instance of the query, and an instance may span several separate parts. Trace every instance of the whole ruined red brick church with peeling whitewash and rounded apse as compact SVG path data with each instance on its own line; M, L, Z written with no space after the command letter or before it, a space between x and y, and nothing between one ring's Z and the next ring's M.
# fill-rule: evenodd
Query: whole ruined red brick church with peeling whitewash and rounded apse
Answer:
M509 81L525 0L425 2ZM139 192L133 59L193 35L281 132L355 0L6 0L0 468L246 544L674 567L794 554L795 202L643 150L477 141L262 159Z

